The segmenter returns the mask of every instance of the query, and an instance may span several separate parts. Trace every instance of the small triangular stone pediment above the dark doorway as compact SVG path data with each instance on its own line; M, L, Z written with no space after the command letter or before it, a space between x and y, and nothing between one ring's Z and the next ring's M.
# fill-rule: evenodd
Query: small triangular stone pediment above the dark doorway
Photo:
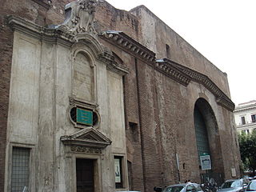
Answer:
M88 146L99 149L111 144L109 138L93 127L87 127L74 134L62 136L61 141L66 145Z

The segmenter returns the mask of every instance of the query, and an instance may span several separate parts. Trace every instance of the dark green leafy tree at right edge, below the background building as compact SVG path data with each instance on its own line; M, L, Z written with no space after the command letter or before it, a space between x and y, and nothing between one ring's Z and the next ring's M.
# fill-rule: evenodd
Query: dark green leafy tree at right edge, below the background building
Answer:
M255 175L256 170L256 130L251 134L238 134L240 154L244 168L252 170Z

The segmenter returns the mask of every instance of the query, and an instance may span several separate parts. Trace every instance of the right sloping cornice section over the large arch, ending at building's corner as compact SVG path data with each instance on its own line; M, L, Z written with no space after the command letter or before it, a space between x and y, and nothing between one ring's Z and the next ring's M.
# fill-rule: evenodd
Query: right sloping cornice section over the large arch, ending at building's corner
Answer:
M191 70L190 68L188 68L186 66L182 66L182 65L178 64L177 62L173 62L167 58L158 60L157 62L165 63L164 66L167 66L167 64L168 64L168 66L176 67L178 69L178 71L181 71L181 73L183 75L186 75L186 77L188 79L190 79L191 81L194 81L194 82L198 82L198 83L202 84L203 86L205 86L207 90L210 90L210 92L212 94L214 94L218 105L223 106L227 110L230 110L230 111L234 110L234 102L232 102L230 100L230 98L228 96L226 96L226 94L224 94L222 92L222 90L220 90L218 88L218 86L216 86L215 83L212 82L210 80L210 78L208 78L208 76L206 76L205 74L201 74L198 71ZM162 67L162 68L164 68L164 67Z

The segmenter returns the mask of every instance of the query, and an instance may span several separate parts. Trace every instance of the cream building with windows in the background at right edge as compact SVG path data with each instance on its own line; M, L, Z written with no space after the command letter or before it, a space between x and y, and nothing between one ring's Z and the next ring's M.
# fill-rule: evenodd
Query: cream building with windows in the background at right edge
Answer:
M234 120L240 134L250 134L256 130L256 101L238 104L234 109Z

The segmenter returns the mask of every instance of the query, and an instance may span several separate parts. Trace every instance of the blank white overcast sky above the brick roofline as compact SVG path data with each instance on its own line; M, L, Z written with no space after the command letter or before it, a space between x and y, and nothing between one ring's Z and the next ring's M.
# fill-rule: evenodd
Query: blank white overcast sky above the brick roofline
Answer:
M106 0L121 10L144 5L226 72L232 101L256 100L256 0Z

